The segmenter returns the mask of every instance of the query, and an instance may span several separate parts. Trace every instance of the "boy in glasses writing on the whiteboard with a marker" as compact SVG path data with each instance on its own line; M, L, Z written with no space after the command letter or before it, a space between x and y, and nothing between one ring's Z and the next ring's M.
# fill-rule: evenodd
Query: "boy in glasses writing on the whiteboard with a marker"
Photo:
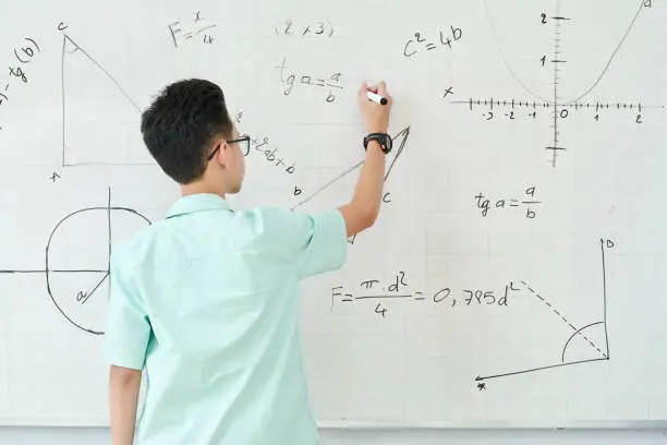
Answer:
M105 338L113 445L133 443L144 366L140 445L318 443L298 285L341 267L347 238L377 218L391 98L384 82L372 89L387 105L368 100L367 89L359 92L369 137L354 195L310 215L229 207L250 139L238 134L216 84L177 82L143 113L144 142L182 197L113 252Z

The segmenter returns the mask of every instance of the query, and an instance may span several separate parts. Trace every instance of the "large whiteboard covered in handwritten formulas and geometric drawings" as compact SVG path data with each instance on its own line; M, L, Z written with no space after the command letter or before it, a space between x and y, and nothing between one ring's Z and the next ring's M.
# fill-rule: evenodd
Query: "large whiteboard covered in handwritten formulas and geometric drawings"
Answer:
M613 5L611 5L613 4ZM323 426L667 419L667 67L642 0L11 2L0 29L0 422L108 424L113 245L179 196L140 113L206 77L253 137L235 208L329 208L386 80L376 225L303 284Z

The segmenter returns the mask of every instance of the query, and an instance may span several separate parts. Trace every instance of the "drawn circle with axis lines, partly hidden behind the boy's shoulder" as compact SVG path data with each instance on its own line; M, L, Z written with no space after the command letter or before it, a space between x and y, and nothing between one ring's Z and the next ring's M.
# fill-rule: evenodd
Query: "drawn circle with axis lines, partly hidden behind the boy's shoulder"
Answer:
M104 335L113 243L150 225L131 208L92 207L54 227L46 246L46 281L51 301L77 328Z

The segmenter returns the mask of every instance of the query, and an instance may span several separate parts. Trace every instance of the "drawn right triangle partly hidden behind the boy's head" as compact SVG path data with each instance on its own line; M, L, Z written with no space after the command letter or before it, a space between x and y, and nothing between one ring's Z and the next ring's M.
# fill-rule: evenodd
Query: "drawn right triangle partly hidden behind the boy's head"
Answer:
M62 41L62 165L155 165L141 108L71 37Z

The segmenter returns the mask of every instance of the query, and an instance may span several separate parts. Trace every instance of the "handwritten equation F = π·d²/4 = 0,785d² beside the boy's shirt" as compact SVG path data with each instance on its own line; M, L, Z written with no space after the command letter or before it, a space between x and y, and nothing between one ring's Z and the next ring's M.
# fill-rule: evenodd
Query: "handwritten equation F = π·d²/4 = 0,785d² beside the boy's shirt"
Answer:
M367 279L361 281L354 288L344 285L331 288L331 310L336 303L354 304L364 301L372 301L375 304L374 311L379 316L386 317L389 312L389 302L396 300L408 300L413 302L446 305L449 308L471 308L471 306L508 306L510 296L519 291L514 281L509 281L501 291L485 288L461 288L452 289L446 287L437 292L426 294L423 291L413 290L407 282L405 272L399 272L390 281Z

